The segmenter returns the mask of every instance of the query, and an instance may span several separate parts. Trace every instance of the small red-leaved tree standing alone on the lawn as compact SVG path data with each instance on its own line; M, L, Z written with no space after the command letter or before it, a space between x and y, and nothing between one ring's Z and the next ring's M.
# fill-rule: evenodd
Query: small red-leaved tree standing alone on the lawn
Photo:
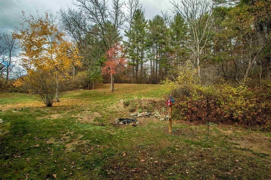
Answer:
M104 62L102 73L110 75L110 92L113 92L115 75L120 72L127 62L124 58L123 47L119 43L114 44L114 46L107 51L106 55L107 61Z

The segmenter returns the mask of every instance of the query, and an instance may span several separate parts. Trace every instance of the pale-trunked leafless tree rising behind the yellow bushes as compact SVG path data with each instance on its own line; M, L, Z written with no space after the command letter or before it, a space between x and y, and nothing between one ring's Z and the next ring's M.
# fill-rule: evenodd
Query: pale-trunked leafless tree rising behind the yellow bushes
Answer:
M202 55L214 33L212 0L173 0L172 12L180 15L187 25L187 35L184 41L177 42L188 49L195 56L195 65L198 68L198 77L201 78Z

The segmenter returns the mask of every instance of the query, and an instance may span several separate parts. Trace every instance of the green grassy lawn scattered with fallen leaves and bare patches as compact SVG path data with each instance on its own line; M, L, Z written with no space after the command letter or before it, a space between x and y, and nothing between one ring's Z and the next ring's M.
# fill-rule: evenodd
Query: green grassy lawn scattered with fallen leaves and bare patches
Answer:
M69 91L54 107L34 95L0 95L1 179L270 179L270 133L127 116L121 99L161 98L160 85Z

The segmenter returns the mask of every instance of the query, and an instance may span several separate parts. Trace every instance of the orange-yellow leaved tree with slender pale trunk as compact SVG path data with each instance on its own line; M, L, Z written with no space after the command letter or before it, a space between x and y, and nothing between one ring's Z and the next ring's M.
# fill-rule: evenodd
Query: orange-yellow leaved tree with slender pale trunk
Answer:
M61 82L68 78L74 65L80 65L78 49L58 30L56 16L52 13L47 11L44 16L31 15L28 18L23 13L23 19L22 27L17 28L13 35L22 48L21 65L30 77L25 79L32 79L31 76L36 74L34 71L53 74L56 81L55 101L58 102Z

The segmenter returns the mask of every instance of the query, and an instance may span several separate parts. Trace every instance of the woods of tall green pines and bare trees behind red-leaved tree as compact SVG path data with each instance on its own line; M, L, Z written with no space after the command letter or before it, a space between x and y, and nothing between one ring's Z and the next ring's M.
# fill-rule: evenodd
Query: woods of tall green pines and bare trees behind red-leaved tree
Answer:
M83 56L83 68L74 69L74 75L85 71L90 87L101 79L106 52L120 43L128 64L115 82L174 80L180 66L196 69L203 84L251 78L260 85L269 78L269 1L173 0L170 4L174 16L164 13L153 19L145 18L138 0L111 4L77 0L76 7L61 10L61 27Z

